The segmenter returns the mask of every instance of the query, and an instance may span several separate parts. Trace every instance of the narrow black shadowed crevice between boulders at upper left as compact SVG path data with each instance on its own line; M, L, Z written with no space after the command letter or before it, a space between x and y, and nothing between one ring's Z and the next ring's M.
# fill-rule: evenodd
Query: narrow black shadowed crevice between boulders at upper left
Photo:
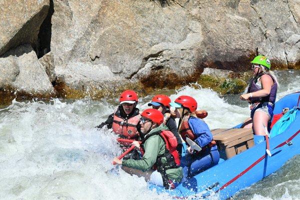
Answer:
M38 36L37 36L36 54L38 58L42 57L44 54L46 54L51 50L50 49L51 27L52 27L51 18L53 13L54 13L53 0L50 0L47 16L41 23Z

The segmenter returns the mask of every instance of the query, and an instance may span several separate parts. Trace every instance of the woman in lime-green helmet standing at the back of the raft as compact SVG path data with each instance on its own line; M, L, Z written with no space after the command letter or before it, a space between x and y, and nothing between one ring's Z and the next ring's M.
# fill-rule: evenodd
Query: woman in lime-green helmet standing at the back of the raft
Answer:
M250 79L247 93L241 94L241 100L251 103L252 129L255 135L264 135L263 126L268 126L273 117L278 81L270 70L270 60L264 55L257 55L251 61L254 77ZM263 141L263 137L254 137L255 143Z

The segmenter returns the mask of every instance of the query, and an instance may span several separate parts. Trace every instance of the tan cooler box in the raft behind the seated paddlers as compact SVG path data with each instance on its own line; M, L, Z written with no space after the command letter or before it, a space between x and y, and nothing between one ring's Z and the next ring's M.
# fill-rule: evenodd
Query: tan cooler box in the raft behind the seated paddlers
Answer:
M212 129L220 158L228 159L254 145L251 128L217 128Z

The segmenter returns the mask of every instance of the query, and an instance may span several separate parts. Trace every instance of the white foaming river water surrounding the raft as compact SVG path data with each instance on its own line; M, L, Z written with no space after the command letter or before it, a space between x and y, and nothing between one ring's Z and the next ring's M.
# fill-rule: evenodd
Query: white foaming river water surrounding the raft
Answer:
M300 71L276 71L277 99L300 90ZM220 97L210 89L161 91L172 100L188 94L208 111L210 128L227 128L249 116L238 95ZM151 96L139 99L147 108ZM143 178L112 166L121 153L116 135L95 125L112 113L113 101L89 98L49 102L12 101L0 108L0 199L171 199L147 189ZM280 170L235 194L233 199L300 199L300 156ZM211 196L211 199L217 199Z

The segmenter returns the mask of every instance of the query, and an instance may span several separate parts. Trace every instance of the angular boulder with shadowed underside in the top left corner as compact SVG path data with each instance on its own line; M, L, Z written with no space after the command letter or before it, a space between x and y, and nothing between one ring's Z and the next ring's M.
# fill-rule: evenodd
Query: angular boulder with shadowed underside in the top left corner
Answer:
M23 43L36 48L48 8L49 0L0 0L0 55Z

